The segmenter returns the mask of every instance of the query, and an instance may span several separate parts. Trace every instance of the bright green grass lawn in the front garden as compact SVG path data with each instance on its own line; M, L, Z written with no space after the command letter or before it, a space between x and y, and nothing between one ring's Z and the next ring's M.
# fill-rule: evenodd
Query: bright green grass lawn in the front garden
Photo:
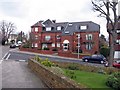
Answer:
M80 70L67 70L64 69L65 75L70 76L70 72L72 72L71 75L75 76L76 78L73 78L76 82L81 83L88 88L108 88L110 90L111 88L107 87L105 82L108 77L108 75L99 74L99 73L92 73L92 72L85 72ZM111 89L112 90L112 89Z

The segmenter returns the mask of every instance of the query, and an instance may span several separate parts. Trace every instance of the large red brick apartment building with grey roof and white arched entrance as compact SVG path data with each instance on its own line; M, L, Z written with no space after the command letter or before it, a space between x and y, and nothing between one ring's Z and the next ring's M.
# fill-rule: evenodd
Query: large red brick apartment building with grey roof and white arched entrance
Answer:
M31 26L32 47L49 49L58 53L93 54L99 51L100 26L88 22L38 21Z

